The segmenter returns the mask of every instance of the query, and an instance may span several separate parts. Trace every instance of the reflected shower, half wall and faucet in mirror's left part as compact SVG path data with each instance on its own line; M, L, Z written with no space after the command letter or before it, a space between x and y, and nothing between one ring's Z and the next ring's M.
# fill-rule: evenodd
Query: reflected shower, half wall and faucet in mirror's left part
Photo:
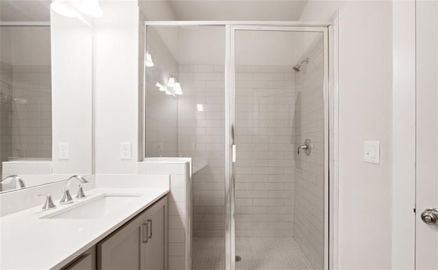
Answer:
M1 26L1 178L51 172L49 26ZM35 162L37 161L37 163ZM21 187L5 179L1 191Z

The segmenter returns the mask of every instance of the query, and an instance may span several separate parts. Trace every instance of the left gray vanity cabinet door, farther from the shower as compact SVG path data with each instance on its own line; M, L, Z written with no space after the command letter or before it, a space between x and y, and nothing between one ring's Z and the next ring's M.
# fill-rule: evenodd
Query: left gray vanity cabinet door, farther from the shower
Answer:
M97 244L98 269L144 269L145 215L140 215Z

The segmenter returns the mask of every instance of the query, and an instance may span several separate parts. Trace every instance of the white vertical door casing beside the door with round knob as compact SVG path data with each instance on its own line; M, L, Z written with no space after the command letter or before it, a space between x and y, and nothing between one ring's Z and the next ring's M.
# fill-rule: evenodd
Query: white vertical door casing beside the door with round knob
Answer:
M392 267L415 268L415 0L393 2Z

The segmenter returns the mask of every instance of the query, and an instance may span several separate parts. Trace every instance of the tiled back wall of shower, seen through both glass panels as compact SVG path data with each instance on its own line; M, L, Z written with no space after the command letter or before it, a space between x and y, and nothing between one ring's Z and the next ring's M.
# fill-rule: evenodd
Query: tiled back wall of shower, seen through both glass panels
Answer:
M292 237L292 66L237 66L236 72L236 236ZM209 163L192 178L195 237L224 236L223 76L222 65L180 67L178 152Z

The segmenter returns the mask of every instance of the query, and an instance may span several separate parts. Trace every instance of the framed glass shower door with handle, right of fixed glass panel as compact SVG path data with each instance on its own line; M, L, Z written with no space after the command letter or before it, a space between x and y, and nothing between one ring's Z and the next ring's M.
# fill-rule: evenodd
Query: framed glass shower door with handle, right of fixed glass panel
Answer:
M232 29L235 269L324 268L328 110L321 28Z

